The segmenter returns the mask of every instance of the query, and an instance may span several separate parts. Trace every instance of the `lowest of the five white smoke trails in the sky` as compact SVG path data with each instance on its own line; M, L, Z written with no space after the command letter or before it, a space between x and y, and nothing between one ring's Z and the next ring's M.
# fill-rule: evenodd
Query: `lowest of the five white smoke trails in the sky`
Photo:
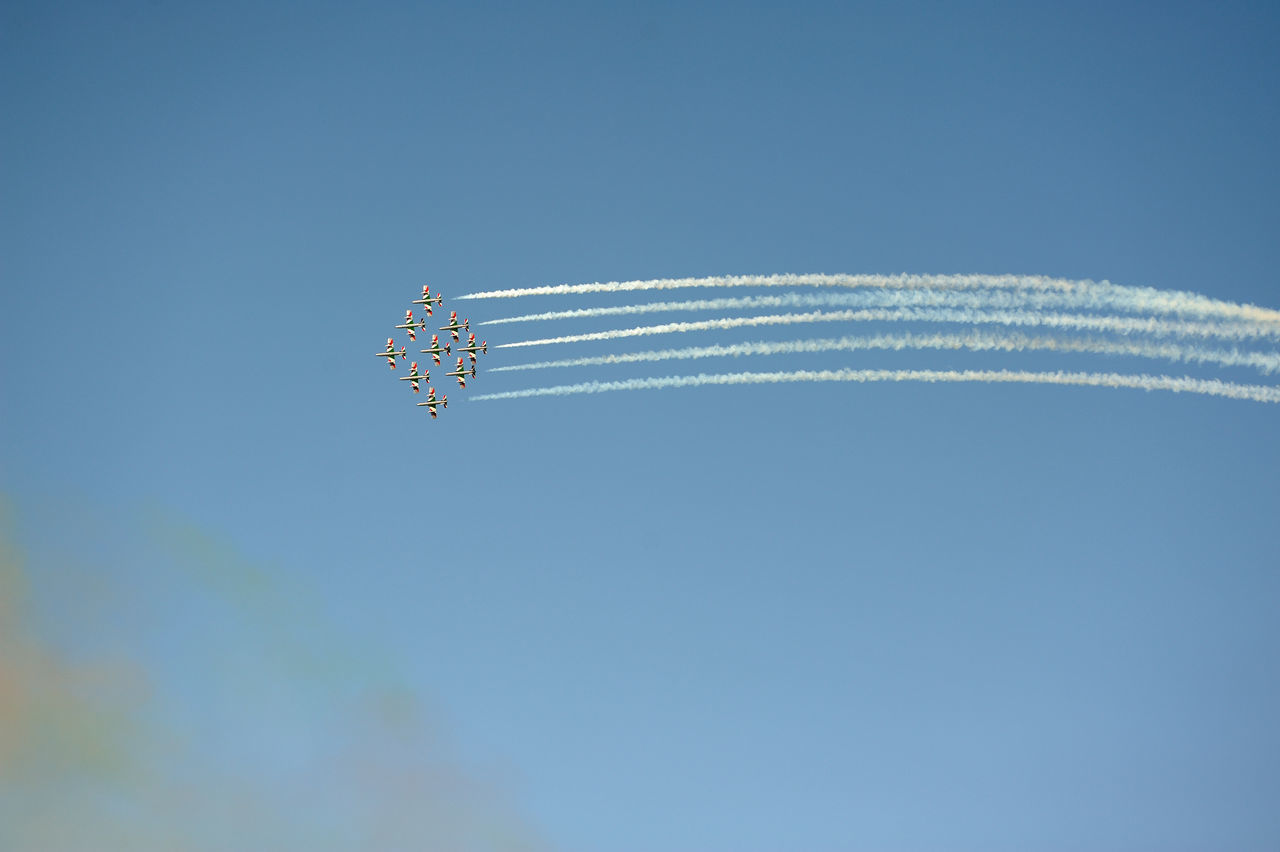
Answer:
M1083 385L1092 388L1134 388L1138 390L1171 390L1206 394L1230 399L1280 403L1280 388L1238 385L1217 379L1189 376L1123 375L1115 372L1025 372L1012 370L792 370L787 372L699 374L696 376L663 376L626 379L622 381L588 381L577 385L529 388L471 397L472 402L488 399L525 399L529 397L567 397L598 394L612 390L653 390L660 388L698 388L703 385L760 385L791 381L927 381L927 383L1014 383L1033 385Z

